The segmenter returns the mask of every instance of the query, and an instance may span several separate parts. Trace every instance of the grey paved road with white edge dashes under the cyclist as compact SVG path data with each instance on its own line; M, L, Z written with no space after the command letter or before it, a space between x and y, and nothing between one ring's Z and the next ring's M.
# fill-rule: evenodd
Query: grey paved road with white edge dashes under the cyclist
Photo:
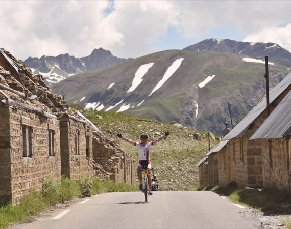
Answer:
M242 207L211 191L158 191L148 203L141 192L113 192L12 228L257 228Z

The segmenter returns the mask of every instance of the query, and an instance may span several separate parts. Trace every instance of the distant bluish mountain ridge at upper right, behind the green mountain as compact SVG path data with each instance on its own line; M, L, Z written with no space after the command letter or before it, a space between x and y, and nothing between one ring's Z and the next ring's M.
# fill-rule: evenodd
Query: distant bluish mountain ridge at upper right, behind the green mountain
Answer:
M232 52L265 58L291 66L291 53L275 43L250 43L233 41L229 39L206 39L197 44L190 45L183 50L215 52Z

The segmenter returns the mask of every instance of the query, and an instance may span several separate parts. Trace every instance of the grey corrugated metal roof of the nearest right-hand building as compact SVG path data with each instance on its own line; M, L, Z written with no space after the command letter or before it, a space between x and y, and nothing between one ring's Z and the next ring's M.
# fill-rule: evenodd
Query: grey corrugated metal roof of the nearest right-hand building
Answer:
M282 138L291 134L291 91L252 135L253 139Z

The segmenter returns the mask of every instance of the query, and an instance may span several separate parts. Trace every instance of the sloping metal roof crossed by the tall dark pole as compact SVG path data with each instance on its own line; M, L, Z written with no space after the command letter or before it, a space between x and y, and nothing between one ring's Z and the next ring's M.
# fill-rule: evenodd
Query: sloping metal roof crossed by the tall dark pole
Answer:
M291 73L289 73L273 90L270 92L270 104L291 84ZM249 126L261 115L266 109L266 97L264 97L249 113L241 120L222 140L230 140L243 136Z

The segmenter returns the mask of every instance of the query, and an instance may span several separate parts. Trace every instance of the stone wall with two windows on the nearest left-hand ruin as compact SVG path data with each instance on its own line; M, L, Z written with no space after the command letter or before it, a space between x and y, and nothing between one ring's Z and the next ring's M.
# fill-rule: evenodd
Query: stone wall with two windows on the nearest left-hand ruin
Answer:
M4 162L7 165L6 172L2 170L1 174L6 178L6 190L7 178L10 176L11 200L13 204L18 204L21 197L32 189L41 190L44 178L53 177L56 182L60 182L59 122L56 118L47 118L25 109L9 107L5 110L9 110L9 123L1 123L1 126L9 125L10 150L6 149L5 157L0 159L1 164ZM48 136L50 133L51 137ZM7 163L8 152L10 165Z

